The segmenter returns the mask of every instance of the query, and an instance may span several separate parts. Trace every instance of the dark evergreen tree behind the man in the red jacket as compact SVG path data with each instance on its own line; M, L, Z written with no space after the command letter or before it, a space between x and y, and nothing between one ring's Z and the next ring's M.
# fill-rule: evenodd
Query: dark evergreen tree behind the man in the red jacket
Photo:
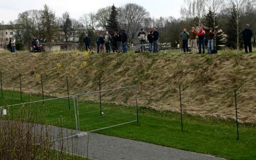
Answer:
M214 47L216 50L219 50L219 45L223 45L225 41L223 41L223 31L219 28L218 16L214 14L211 10L208 11L207 15L205 15L205 26L206 35L210 32L210 28L213 28L215 31L215 39L214 39Z

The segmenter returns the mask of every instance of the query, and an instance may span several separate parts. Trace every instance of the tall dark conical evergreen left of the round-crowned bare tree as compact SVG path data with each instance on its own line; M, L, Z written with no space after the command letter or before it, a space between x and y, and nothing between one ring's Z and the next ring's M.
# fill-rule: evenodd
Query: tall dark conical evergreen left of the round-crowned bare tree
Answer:
M118 21L117 21L117 15L118 15L118 12L116 10L116 7L113 6L111 7L111 13L110 13L110 17L109 19L107 20L107 26L106 26L106 29L107 31L109 31L109 34L111 36L114 35L114 32L115 31L119 31L119 25L118 25Z

